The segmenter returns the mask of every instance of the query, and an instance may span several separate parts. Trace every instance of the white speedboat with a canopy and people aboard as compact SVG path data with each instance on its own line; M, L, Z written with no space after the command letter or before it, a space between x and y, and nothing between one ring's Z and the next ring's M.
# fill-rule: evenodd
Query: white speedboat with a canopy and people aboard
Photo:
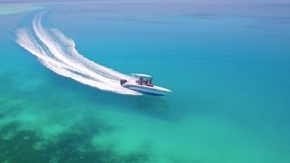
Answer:
M120 81L122 87L158 96L164 96L171 92L169 89L153 85L153 77L148 74L131 73L131 75L130 80Z

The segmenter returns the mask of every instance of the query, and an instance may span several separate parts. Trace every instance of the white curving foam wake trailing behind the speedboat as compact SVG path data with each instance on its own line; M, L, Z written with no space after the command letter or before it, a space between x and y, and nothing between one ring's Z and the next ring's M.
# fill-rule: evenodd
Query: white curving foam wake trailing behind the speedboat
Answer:
M137 91L121 87L119 81L129 79L129 76L86 59L75 49L72 39L58 29L44 28L41 21L42 14L36 15L31 30L18 29L16 43L34 54L45 67L100 90L140 95Z

